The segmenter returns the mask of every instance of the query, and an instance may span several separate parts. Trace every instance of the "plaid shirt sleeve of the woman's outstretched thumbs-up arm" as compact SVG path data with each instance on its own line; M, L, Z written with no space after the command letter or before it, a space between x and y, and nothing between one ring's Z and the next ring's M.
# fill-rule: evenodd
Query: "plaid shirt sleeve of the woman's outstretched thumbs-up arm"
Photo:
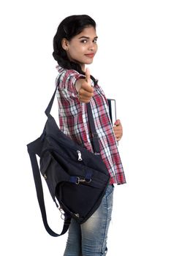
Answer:
M65 97L77 97L75 83L80 78L83 79L85 76L75 70L66 70L66 72L61 75L59 90L62 91Z

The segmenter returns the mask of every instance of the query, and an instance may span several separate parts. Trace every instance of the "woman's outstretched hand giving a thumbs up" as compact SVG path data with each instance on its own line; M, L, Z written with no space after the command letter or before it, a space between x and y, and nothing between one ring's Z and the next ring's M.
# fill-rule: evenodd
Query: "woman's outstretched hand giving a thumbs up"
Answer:
M91 75L90 71L86 69L86 80L79 79L76 82L76 89L78 91L78 97L80 102L88 103L91 97L94 96L94 89L91 87Z

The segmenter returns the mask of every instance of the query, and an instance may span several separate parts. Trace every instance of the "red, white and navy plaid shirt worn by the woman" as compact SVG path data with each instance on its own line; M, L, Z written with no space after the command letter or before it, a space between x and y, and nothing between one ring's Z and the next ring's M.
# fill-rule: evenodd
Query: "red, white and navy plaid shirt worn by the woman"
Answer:
M60 129L76 143L83 145L88 151L94 152L91 146L91 135L88 125L86 103L80 102L75 89L77 79L85 78L75 70L57 67L60 83L57 89L58 115ZM58 77L56 78L57 81ZM124 184L123 172L118 146L110 121L107 99L101 87L91 80L94 86L94 97L90 104L94 117L96 132L99 135L99 146L102 159L110 173L110 184Z

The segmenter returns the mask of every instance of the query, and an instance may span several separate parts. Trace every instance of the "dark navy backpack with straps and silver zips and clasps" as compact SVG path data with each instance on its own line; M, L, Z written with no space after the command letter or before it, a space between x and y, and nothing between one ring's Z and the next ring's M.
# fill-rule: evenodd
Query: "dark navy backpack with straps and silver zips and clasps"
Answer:
M75 143L58 128L50 115L55 96L56 90L45 110L47 121L42 135L27 147L45 229L51 236L61 236L68 230L71 218L82 224L94 214L107 189L110 174L100 154L90 103L86 106L94 153ZM39 156L39 165L36 155ZM53 232L47 223L40 173L56 206L64 214L61 234Z

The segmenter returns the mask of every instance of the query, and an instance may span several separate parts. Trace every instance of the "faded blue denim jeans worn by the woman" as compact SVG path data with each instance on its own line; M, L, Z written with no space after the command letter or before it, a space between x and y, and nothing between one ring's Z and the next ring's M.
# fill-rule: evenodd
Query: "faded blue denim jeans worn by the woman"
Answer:
M113 209L113 185L107 187L102 203L82 225L75 219L69 226L64 256L102 256L107 253L107 232Z

